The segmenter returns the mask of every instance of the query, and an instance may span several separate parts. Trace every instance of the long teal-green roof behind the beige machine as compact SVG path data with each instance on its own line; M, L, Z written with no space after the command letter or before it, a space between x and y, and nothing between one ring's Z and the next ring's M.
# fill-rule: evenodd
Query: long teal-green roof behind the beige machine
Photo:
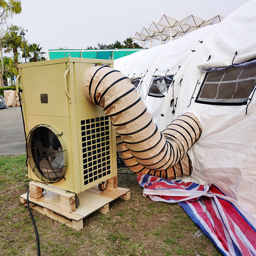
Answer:
M47 50L48 60L60 59L65 57L89 58L115 60L132 53L144 50L143 48L125 48L125 49L57 49Z

